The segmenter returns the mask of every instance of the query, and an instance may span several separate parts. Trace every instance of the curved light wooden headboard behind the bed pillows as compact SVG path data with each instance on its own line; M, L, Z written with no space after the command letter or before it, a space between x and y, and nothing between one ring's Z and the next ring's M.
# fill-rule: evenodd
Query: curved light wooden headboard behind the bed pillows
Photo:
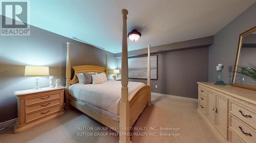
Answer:
M70 84L78 83L78 78L76 73L83 73L83 72L106 72L106 68L100 66L93 66L93 65L83 65L83 66L74 66L72 67L75 71L74 77L70 81Z

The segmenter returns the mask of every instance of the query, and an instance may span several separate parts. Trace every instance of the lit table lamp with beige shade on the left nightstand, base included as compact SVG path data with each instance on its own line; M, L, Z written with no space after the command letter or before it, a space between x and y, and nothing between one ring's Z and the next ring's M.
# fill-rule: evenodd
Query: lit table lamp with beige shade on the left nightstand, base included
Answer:
M49 67L42 66L25 66L25 76L35 77L35 88L34 90L39 90L39 76L49 76Z

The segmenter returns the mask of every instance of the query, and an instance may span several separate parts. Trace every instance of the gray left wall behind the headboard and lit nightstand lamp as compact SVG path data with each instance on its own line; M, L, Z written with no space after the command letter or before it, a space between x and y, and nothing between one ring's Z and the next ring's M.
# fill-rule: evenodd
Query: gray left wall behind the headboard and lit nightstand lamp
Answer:
M31 26L30 36L0 36L0 123L17 115L17 101L13 92L34 87L33 77L24 77L25 65L49 66L50 75L66 85L66 42L71 42L71 65L105 67L105 53L109 54L109 68L117 68L114 54L99 48ZM40 86L48 87L49 78L41 77Z

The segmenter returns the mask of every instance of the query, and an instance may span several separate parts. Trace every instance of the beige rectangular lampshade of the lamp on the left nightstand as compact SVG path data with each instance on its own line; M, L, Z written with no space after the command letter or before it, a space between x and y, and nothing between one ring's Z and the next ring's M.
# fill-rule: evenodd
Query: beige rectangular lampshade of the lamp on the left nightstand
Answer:
M49 76L49 67L25 66L25 76Z

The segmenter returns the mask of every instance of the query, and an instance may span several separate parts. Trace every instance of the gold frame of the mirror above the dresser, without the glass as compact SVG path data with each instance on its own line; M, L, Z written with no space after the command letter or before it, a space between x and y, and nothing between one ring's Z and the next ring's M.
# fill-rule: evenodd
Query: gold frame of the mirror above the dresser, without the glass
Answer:
M238 64L239 64L239 58L240 58L240 53L241 53L241 48L242 48L242 43L243 43L243 37L256 31L256 26L253 28L250 28L248 31L240 34L239 36L239 42L238 42L238 51L237 51L237 58L236 58L236 63L234 65L234 73L233 73L233 79L232 79L232 86L238 87L238 88L243 88L247 90L253 90L256 91L256 87L253 85L247 85L247 84L241 84L241 83L236 83L236 77L237 77L237 70L238 70Z

